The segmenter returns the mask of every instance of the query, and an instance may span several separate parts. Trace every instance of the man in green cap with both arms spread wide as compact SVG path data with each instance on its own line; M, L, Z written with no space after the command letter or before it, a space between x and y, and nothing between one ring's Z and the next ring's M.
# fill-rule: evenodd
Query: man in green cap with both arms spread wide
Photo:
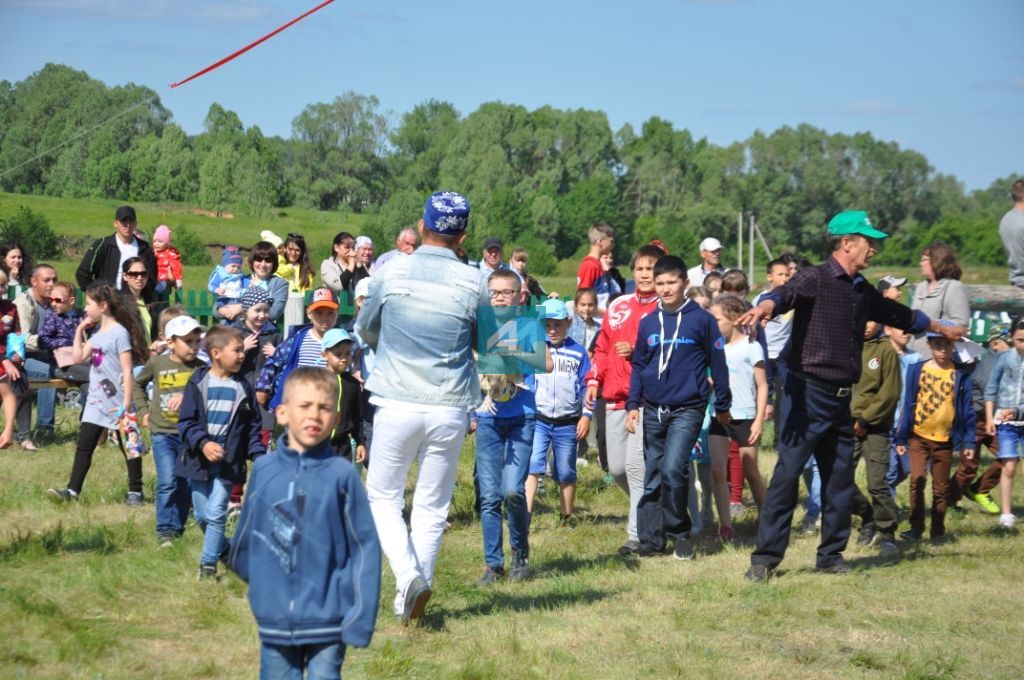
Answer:
M784 286L765 294L739 324L765 323L794 310L793 334L782 351L790 367L779 408L782 431L778 462L761 508L757 549L746 578L765 582L782 561L797 506L798 483L814 456L821 472L821 543L816 566L846 573L843 558L850 538L854 488L853 418L850 396L860 378L864 326L868 320L911 334L926 330L958 340L966 329L942 326L920 310L889 300L860 271L888 235L861 210L841 212L828 222L831 255L798 271Z

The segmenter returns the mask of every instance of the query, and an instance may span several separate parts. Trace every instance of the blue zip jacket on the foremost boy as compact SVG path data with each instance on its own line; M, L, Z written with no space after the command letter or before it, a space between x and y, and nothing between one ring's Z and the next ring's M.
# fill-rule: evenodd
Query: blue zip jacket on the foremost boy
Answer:
M330 441L300 455L286 433L256 461L227 561L262 642L370 644L380 542L362 481Z

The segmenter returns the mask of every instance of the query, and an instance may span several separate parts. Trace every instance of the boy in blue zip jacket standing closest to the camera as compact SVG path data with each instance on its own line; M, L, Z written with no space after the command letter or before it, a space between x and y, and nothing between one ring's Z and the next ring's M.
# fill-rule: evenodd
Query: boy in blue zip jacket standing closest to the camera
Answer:
M249 584L260 677L337 678L346 645L373 636L380 543L358 473L331 447L337 379L300 367L283 391L285 433L253 465L228 563Z

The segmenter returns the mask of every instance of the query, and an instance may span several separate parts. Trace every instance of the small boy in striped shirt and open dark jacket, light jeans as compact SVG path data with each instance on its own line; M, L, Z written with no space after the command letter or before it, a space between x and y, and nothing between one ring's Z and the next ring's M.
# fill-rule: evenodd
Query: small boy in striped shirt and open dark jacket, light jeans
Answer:
M246 459L262 456L260 415L252 386L239 372L246 358L242 334L215 326L206 334L210 368L197 369L178 411L181 454L174 474L188 480L196 521L203 527L199 578L217 576L226 552L224 525L231 487L246 480Z

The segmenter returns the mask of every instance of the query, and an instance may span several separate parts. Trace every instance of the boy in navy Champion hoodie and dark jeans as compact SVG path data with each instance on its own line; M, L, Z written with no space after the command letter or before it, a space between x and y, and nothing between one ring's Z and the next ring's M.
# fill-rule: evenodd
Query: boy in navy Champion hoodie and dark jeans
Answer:
M715 414L729 423L729 370L715 317L685 295L686 264L666 255L654 264L657 309L640 322L633 349L626 427L636 430L644 406L644 488L637 505L641 556L675 543L676 559L693 558L690 540L689 456L700 434L712 387Z

